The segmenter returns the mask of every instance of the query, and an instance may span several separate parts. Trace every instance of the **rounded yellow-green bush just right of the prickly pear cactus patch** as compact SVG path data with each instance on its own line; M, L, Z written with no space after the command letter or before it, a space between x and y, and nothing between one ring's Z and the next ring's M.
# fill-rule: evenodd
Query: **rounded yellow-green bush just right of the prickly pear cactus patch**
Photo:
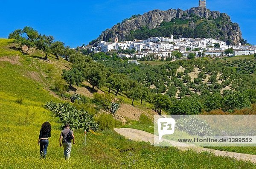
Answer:
M102 113L96 120L100 130L113 129L122 125L121 121L117 121L111 114Z

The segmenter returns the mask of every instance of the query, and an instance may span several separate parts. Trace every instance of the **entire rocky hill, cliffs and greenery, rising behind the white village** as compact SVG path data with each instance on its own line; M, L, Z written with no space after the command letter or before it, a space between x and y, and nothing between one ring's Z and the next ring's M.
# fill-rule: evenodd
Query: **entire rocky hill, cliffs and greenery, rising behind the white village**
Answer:
M137 31L141 29L147 30L142 32L146 35L147 33L145 32L156 30L155 32L159 33L153 35L170 36L169 34L164 34L161 31L161 27L163 27L163 23L173 23L172 26L165 27L172 29L175 27L175 20L183 21L179 25L181 27L179 29L183 28L190 31L190 34L186 34L186 31L185 33L181 31L182 37L214 38L232 44L238 44L242 39L239 25L232 23L227 14L220 13L219 11L210 11L203 7L196 7L186 11L181 9L169 9L167 11L153 10L140 16L131 17L103 31L96 40L90 42L90 45L96 45L102 40L112 41L115 37L118 37L119 41L123 41L132 40L133 38L146 39L151 35L151 33L148 33L148 36L138 36ZM171 31L171 33L174 35L175 33L180 34L179 31Z

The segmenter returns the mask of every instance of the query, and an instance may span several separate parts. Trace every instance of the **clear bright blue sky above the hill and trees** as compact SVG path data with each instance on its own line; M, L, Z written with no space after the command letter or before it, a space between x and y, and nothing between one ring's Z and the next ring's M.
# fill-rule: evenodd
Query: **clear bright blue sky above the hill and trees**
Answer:
M207 0L207 8L230 15L239 23L242 35L256 44L256 0ZM0 37L31 26L41 34L76 47L96 39L133 14L153 9L183 10L198 6L198 0L0 0Z

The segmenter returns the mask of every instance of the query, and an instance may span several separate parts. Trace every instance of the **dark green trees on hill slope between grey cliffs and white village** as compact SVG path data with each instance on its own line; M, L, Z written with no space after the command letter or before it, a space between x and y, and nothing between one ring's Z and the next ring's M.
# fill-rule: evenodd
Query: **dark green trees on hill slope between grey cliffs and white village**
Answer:
M218 38L224 40L230 45L232 40L224 37L223 25L231 25L228 22L227 16L221 15L217 19L201 18L196 15L191 15L185 19L172 19L171 22L163 22L158 28L148 29L142 27L138 30L130 31L131 36L126 40L133 39L148 39L149 37L169 37L173 35L182 35L183 37L197 37L197 38ZM195 27L190 26L195 25ZM244 41L243 41L244 43ZM217 46L217 45L216 45Z

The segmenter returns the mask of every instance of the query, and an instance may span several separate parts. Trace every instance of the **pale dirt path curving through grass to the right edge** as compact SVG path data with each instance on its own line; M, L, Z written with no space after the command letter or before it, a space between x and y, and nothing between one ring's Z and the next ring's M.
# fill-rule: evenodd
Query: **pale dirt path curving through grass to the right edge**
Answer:
M151 133L144 132L141 130L136 130L136 129L122 128L122 129L115 129L115 131L120 135L125 136L125 138L131 139L134 141L145 141L145 142L149 142L150 144L154 144L154 137L157 137ZM185 144L187 146L184 146L183 143L178 143L178 142L169 141L169 140L165 140L165 141L171 143L173 146L177 147L177 149L180 149L183 151L189 150L189 149L192 149L195 152L208 151L208 152L212 152L216 156L233 157L233 158L236 158L237 160L251 161L253 163L256 163L256 155L207 149L203 147L191 146L189 144ZM181 144L183 144L182 147L181 147Z

